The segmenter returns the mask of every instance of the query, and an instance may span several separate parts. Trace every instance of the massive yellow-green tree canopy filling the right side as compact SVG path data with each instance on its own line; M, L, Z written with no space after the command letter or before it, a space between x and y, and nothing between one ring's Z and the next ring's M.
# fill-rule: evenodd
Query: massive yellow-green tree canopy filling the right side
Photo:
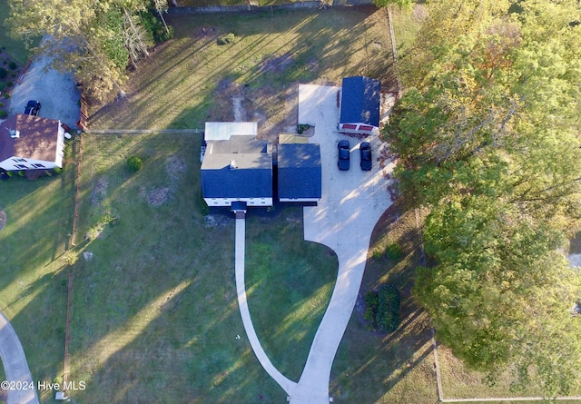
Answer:
M581 6L447 0L401 63L408 90L385 135L399 191L428 206L415 293L468 366L578 386ZM512 368L511 368L512 367Z

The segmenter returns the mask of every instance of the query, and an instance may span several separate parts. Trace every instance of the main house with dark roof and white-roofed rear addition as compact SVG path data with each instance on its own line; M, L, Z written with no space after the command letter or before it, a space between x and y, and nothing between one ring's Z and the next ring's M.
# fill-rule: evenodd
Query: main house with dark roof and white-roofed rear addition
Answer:
M201 173L208 206L272 206L272 146L257 132L257 123L206 123Z

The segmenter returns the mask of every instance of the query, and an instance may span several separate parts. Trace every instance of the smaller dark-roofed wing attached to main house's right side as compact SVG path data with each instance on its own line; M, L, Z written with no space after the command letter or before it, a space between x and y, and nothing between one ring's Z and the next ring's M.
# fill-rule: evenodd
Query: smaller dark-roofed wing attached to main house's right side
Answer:
M319 202L322 192L319 144L279 144L278 182L281 202Z

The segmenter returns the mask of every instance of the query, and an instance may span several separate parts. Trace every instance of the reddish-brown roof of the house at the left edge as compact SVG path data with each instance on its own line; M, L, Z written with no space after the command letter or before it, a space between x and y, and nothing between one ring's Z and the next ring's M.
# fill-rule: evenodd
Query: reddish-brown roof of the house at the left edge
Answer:
M10 157L23 159L56 160L59 121L40 116L17 113L0 123L0 162ZM17 138L10 131L20 133Z

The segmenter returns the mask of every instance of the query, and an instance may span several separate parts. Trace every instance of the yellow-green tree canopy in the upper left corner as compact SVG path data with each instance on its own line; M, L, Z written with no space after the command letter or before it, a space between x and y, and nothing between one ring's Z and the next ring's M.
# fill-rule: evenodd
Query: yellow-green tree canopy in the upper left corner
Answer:
M143 24L142 15L152 6L159 15L165 11L151 0L8 3L5 25L11 34L25 40L44 37L36 52L52 56L57 69L73 71L85 94L97 100L112 91L123 94L127 65L134 66L153 45L152 27Z

